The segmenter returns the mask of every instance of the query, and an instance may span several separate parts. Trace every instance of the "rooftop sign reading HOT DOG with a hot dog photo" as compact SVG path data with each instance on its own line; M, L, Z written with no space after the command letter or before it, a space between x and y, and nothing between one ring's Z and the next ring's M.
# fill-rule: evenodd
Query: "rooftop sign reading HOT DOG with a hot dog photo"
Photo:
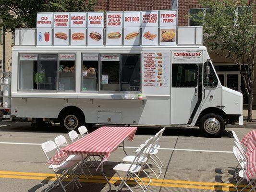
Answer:
M140 12L123 12L123 45L140 45Z

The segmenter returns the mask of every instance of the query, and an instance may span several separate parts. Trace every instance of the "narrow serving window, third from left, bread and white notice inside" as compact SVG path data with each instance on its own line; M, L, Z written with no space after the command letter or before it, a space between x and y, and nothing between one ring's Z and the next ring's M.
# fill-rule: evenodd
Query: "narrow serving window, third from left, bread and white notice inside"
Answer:
M83 54L82 59L82 91L96 91L98 87L98 54Z

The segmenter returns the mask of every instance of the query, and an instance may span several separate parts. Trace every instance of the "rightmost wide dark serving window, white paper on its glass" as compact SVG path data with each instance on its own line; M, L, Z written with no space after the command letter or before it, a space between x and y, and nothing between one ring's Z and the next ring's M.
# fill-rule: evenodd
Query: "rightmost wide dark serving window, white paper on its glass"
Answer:
M101 90L140 91L140 55L103 54Z

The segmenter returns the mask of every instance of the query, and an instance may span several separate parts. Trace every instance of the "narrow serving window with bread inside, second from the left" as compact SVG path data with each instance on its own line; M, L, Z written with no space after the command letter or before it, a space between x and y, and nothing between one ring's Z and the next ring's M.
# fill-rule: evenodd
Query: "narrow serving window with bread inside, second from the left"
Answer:
M75 54L60 54L59 60L59 91L74 91Z

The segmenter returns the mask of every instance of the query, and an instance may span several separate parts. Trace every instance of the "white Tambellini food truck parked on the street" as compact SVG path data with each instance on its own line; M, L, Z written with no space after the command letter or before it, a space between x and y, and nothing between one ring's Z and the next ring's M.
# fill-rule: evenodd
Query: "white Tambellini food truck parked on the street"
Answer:
M48 118L66 130L85 123L199 126L210 137L225 124L243 124L243 96L220 84L199 45L201 27L177 27L175 45L152 46L31 46L33 30L16 30L13 116Z

